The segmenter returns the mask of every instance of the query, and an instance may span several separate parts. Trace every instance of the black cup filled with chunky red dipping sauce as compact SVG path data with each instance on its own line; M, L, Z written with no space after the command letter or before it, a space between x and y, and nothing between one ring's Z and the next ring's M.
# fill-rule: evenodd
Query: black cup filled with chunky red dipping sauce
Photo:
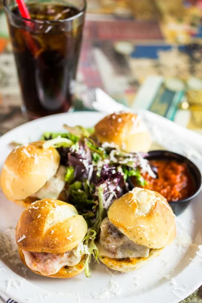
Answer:
M150 165L156 164L155 173L157 169L157 179L147 173L145 176L143 174L147 181L145 188L160 192L167 198L175 215L180 215L201 190L202 177L199 169L186 157L167 150L149 151L145 159ZM128 180L130 187L138 186L132 178Z

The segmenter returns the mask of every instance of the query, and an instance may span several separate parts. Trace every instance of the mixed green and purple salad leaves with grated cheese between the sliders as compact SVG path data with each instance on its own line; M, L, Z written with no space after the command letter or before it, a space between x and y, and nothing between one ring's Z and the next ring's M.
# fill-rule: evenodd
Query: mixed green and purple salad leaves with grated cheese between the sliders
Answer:
M141 172L153 177L145 154L125 153L114 144L101 144L92 129L65 125L66 133L45 132L43 148L56 147L61 164L66 166L65 191L67 201L84 217L88 232L74 251L75 256L87 255L85 274L90 276L89 261L97 260L94 243L100 224L113 201L129 190L128 177L134 176L140 186L145 185Z

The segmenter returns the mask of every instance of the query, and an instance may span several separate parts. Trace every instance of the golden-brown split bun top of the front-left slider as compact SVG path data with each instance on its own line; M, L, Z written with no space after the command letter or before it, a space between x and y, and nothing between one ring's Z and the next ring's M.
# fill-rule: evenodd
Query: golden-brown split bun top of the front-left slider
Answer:
M86 221L73 205L42 199L22 213L16 227L16 242L23 250L63 254L76 247L86 232Z

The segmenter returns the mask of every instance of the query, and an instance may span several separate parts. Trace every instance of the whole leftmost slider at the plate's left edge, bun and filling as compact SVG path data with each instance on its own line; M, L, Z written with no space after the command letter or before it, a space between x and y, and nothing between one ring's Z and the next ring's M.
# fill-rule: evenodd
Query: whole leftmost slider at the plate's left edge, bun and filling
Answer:
M26 207L36 199L62 196L65 166L60 165L56 148L44 148L38 141L12 150L1 173L1 188L6 197Z

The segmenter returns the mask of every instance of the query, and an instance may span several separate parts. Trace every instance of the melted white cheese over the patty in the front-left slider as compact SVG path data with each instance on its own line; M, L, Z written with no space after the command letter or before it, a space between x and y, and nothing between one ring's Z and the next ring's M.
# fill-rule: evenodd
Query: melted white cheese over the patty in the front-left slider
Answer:
M25 250L23 250L23 254L25 262L31 270L46 276L58 273L63 266L74 266L81 261L81 257L75 257L73 249L59 255Z

